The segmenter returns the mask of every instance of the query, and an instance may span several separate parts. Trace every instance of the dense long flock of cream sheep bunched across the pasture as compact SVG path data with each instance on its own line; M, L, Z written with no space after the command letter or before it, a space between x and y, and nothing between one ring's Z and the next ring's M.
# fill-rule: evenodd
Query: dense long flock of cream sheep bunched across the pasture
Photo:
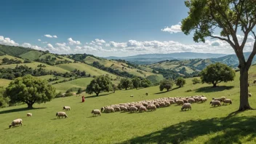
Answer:
M119 103L117 105L107 105L99 109L92 110L93 116L101 116L101 113L113 113L116 111L123 111L130 113L134 112L145 112L145 111L156 111L157 108L168 107L173 104L182 105L181 111L192 110L192 103L204 103L207 101L207 97L204 95L196 95L191 97L163 97L154 100L143 100L139 102L132 103ZM213 98L210 104L212 106L224 104L232 104L231 99L226 99L226 97Z

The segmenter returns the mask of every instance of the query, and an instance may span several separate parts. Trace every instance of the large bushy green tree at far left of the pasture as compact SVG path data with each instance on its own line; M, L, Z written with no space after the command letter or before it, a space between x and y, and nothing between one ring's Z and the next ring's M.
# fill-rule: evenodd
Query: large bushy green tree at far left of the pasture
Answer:
M55 97L55 87L46 80L28 75L12 81L6 89L6 95L10 98L10 103L23 102L28 108L33 108L34 103L52 100Z

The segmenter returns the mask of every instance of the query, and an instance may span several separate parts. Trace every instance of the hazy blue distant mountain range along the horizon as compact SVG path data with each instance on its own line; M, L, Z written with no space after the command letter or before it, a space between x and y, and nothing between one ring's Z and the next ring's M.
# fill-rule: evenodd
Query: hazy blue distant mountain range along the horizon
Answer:
M145 54L133 55L128 57L104 57L108 60L127 60L136 64L152 64L163 60L188 60L188 59L207 59L223 57L225 54L197 53L197 52L176 52L170 54Z

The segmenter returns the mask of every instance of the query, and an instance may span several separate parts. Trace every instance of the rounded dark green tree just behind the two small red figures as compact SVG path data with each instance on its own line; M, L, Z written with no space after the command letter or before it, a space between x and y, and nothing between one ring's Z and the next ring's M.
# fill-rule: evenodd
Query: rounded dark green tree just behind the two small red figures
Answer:
M97 76L89 83L89 85L87 85L85 92L87 92L87 94L92 94L95 92L95 94L98 96L100 92L109 92L111 89L112 82L108 76Z

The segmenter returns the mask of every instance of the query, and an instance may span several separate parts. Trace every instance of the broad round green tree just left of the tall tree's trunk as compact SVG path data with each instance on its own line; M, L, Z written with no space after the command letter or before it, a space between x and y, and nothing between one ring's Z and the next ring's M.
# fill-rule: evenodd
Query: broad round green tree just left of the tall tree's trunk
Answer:
M202 83L213 84L213 87L216 87L220 82L233 81L235 76L236 72L222 63L208 65L201 71Z

